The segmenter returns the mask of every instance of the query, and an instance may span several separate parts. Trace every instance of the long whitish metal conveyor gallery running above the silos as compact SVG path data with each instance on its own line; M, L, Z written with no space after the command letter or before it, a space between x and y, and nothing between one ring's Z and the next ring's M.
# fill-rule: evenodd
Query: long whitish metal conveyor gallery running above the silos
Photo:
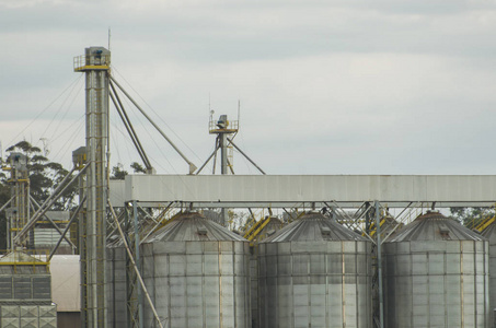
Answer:
M455 207L491 206L496 199L495 175L128 175L125 185L126 200L198 206L378 200L389 207L410 201Z

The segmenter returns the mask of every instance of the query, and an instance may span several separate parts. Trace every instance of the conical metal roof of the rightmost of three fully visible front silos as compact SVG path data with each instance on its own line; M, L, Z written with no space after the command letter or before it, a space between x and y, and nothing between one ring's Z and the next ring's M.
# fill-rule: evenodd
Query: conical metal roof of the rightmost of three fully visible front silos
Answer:
M485 241L485 238L439 212L427 212L406 225L388 243L410 241Z

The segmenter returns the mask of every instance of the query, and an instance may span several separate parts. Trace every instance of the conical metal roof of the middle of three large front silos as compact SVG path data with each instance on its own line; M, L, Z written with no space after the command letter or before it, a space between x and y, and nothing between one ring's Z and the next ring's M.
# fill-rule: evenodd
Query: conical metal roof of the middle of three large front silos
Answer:
M367 241L320 212L308 212L262 243L302 241Z

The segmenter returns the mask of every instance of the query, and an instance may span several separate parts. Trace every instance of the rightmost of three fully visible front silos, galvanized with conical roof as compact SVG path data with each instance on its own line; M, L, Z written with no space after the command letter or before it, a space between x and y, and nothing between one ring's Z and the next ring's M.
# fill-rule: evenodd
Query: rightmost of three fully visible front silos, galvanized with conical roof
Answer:
M383 244L385 327L488 327L488 242L428 212Z

